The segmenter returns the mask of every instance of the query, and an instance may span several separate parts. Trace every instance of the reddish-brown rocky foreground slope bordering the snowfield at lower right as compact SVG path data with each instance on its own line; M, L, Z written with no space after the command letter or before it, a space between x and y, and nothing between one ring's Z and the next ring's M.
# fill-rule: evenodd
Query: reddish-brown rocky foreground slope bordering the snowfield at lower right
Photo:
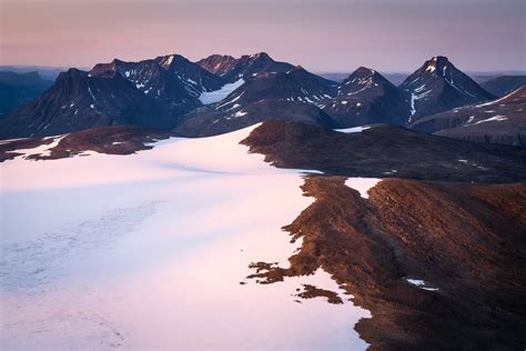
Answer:
M290 267L260 262L262 283L328 272L371 319L373 350L513 350L526 330L526 184L388 179L368 200L342 177L311 177L315 202L290 225ZM425 282L425 290L407 281Z

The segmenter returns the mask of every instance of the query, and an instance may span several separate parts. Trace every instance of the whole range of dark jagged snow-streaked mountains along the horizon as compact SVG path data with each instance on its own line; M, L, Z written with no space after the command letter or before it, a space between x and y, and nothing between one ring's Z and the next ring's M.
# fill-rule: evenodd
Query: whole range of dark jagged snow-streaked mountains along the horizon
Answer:
M488 87L500 94L520 82L502 79ZM89 71L70 69L39 98L0 121L0 138L47 137L115 124L203 137L265 120L330 128L411 127L429 116L495 99L445 57L424 62L396 87L365 67L337 83L264 52L241 58L213 54L196 62L170 54L139 62L115 59Z

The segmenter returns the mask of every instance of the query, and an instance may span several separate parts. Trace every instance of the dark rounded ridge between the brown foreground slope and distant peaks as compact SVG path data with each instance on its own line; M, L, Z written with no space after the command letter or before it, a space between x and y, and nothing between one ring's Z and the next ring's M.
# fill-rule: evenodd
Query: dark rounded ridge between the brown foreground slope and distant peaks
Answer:
M280 168L328 174L433 181L526 180L526 150L472 143L378 124L338 132L303 123L269 121L242 141Z

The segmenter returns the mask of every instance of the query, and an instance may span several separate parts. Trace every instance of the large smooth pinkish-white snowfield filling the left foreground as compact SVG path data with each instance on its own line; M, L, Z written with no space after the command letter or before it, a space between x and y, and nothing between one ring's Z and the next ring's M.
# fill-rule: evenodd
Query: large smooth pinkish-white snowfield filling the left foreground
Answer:
M245 279L287 265L299 243L281 227L312 202L302 171L239 144L253 128L0 163L1 349L365 349L368 311L294 301L302 283L348 299L326 272Z

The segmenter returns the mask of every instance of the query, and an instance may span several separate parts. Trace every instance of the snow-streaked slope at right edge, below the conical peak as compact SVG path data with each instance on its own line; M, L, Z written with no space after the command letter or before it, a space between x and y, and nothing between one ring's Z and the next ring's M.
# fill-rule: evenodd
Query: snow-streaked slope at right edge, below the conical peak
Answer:
M425 117L411 128L468 141L526 147L526 87L490 102Z

